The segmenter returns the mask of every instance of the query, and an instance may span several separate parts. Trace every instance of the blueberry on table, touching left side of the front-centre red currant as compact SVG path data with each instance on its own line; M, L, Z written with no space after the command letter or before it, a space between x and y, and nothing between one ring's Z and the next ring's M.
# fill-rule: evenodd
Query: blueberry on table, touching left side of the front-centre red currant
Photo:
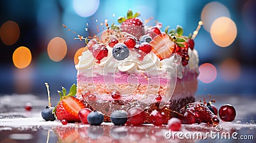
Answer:
M128 113L125 110L115 110L110 115L110 120L115 125L123 125L127 121Z

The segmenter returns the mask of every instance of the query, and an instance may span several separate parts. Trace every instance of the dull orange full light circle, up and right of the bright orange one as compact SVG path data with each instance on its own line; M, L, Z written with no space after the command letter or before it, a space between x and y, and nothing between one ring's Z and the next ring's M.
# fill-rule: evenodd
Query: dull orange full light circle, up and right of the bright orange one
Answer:
M52 61L61 61L67 54L67 43L63 38L55 37L47 46L48 56Z

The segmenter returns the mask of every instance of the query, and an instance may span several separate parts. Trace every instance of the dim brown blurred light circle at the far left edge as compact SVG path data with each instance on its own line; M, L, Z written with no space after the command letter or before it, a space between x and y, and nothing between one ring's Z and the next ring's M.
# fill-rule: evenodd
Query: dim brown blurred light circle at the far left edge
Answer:
M12 20L4 22L0 28L0 36L4 44L13 45L20 36L19 25Z

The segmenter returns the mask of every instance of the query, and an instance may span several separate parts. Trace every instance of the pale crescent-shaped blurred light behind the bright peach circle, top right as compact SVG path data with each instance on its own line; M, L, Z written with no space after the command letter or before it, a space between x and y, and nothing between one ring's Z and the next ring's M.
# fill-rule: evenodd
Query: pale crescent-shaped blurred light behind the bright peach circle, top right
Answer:
M214 20L218 19L218 17L230 17L227 7L216 1L206 4L201 13L204 29L210 32L212 23Z

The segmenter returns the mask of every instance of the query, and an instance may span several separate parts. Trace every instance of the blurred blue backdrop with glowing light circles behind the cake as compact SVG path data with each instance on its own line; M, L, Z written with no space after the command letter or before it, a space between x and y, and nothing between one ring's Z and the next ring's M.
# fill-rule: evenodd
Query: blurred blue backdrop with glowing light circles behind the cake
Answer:
M256 95L255 0L10 0L0 1L0 95L46 95L76 83L77 56L84 41L106 29L127 10L140 11L148 26L204 26L195 38L200 56L198 95ZM79 50L80 49L80 50Z

